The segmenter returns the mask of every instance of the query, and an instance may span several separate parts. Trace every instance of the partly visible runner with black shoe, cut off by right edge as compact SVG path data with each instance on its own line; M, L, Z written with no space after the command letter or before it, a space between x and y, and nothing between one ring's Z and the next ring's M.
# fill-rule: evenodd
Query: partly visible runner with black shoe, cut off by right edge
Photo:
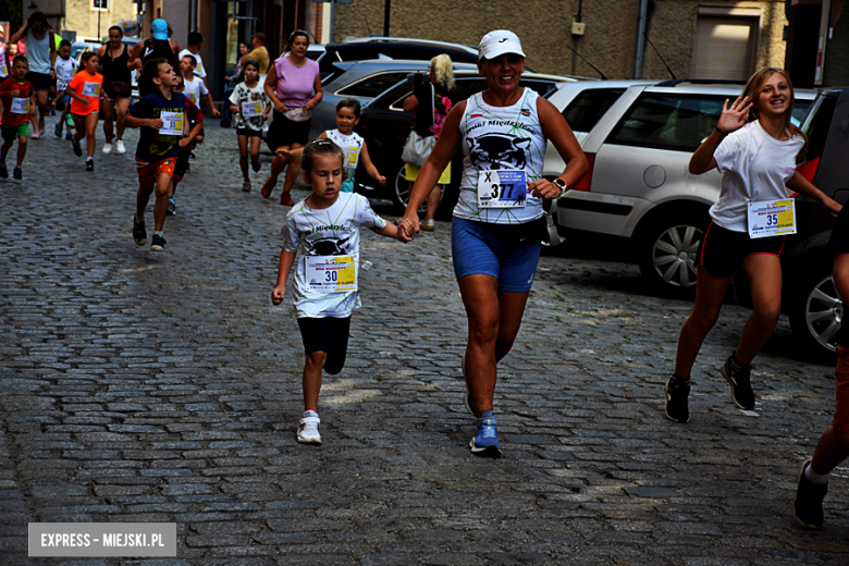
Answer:
M849 297L849 207L837 216L828 246L834 251L834 285L841 297ZM849 328L840 325L835 335L837 368L832 428L816 443L813 458L799 467L793 517L803 527L823 526L823 499L828 491L828 478L837 466L849 457Z

